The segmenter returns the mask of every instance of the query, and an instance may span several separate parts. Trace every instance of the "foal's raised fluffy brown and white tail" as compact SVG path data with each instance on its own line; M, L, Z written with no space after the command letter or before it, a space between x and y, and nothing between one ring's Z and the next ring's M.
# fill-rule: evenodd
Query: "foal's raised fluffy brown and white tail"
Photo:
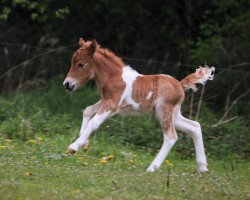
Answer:
M182 79L180 81L181 85L184 89L192 89L194 91L197 91L196 83L204 84L207 80L213 80L214 72L214 67L200 67L199 69L196 69L194 73Z

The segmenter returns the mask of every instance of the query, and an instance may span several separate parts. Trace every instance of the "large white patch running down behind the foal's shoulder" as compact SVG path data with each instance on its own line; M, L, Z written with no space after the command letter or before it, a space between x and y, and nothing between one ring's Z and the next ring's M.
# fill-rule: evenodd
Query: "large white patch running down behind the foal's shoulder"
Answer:
M130 66L123 67L122 72L122 79L126 83L126 88L121 96L119 106L126 102L127 104L132 105L132 107L136 110L140 108L140 104L136 103L135 100L132 98L132 90L133 90L133 83L138 76L142 76L137 71L133 70Z

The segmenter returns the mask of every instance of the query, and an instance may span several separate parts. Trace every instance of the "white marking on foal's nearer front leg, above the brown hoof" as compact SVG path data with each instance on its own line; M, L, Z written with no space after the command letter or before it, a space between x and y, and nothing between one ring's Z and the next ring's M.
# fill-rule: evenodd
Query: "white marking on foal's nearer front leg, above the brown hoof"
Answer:
M78 151L81 146L87 143L90 134L99 128L99 126L107 119L110 115L110 111L104 112L102 114L96 114L88 123L87 128L82 133L82 135L69 146L69 149Z

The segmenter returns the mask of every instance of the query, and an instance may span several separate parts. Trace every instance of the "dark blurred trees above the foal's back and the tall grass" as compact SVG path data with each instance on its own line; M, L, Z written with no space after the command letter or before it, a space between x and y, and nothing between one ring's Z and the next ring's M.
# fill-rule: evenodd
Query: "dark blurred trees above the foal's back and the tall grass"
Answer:
M250 1L0 0L0 91L66 73L79 37L96 38L139 72L182 78L217 69L206 94L225 107L250 83ZM155 61L156 60L156 61ZM246 106L249 95L240 102ZM244 112L244 111L240 111Z

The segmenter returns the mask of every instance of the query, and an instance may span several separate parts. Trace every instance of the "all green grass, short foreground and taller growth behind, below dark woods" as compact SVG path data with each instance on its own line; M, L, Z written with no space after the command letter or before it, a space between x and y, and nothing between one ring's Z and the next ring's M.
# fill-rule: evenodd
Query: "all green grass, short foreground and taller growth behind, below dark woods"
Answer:
M79 134L81 109L99 97L91 86L68 94L62 81L0 97L0 200L250 199L248 118L212 128L220 115L203 104L210 172L197 172L193 141L178 133L169 163L149 174L162 143L152 116L115 116L90 137L88 151L65 154Z

